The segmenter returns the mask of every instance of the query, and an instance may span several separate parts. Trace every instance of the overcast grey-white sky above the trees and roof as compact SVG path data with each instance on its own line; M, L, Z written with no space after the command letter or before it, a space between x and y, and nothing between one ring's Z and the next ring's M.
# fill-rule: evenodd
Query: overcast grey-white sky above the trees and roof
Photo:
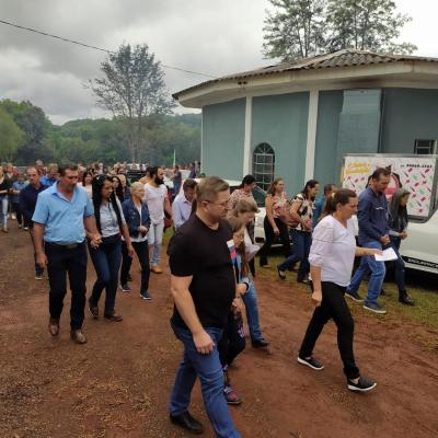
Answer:
M438 57L437 0L395 0L413 18L401 41ZM263 58L268 0L0 0L0 20L93 46L148 44L166 66L222 76L275 64ZM105 53L0 23L0 100L28 100L55 124L108 116L84 85L100 78ZM164 69L174 93L208 78ZM176 112L193 110L176 108Z

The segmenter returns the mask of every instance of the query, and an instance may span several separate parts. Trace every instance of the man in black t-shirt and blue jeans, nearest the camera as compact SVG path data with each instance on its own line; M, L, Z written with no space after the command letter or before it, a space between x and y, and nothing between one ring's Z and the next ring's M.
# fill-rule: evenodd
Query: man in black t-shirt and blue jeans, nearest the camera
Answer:
M191 392L199 377L208 417L218 437L241 437L223 396L223 372L217 345L231 303L239 293L231 264L232 231L223 220L230 189L209 176L196 187L196 214L176 230L169 243L171 289L175 301L171 320L184 356L170 403L171 420L192 433L203 426L188 413Z

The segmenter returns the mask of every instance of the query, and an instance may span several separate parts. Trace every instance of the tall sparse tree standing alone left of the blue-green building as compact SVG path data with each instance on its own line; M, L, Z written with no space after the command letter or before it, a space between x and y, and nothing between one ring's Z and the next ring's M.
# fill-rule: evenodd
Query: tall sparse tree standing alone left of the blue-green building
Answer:
M104 78L90 81L97 104L123 122L131 160L138 161L146 119L169 114L174 103L164 84L164 72L146 44L122 45L102 62Z

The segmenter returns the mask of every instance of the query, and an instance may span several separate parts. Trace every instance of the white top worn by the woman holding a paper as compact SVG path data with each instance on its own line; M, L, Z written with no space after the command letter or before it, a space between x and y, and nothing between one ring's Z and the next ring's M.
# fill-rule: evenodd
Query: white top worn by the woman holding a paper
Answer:
M345 228L333 216L326 216L313 231L309 263L321 266L321 281L346 287L351 279L355 252L355 228L351 219Z

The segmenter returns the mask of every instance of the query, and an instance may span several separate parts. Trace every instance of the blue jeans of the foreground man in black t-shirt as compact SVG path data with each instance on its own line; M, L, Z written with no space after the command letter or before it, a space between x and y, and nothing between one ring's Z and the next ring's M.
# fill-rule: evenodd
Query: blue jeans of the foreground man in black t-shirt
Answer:
M176 372L172 390L170 413L180 415L188 410L191 392L199 377L207 415L219 438L240 438L235 429L228 404L223 396L223 371L219 360L218 344L222 336L220 328L206 328L215 343L215 349L208 355L196 350L193 335L187 328L172 324L175 336L184 345L184 356Z

